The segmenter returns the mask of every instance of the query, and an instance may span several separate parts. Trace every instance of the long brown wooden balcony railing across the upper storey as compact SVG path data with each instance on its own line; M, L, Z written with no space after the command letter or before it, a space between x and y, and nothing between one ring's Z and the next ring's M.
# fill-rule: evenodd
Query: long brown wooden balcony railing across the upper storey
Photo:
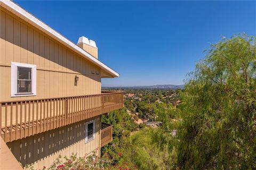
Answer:
M1 136L5 142L10 142L123 107L123 92L36 100L1 101Z

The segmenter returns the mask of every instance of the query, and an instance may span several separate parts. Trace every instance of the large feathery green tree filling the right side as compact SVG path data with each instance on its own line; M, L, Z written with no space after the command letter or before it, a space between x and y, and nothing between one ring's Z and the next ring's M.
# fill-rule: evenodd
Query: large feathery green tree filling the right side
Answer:
M256 168L255 40L222 38L189 74L181 94L180 168Z

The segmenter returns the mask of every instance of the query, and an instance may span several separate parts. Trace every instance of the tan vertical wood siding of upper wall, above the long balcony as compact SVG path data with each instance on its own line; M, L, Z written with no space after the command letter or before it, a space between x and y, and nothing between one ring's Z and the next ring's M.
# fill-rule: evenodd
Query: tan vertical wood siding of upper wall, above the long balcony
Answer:
M36 96L10 97L11 62L37 66ZM100 94L101 90L99 67L3 8L0 74L1 101Z

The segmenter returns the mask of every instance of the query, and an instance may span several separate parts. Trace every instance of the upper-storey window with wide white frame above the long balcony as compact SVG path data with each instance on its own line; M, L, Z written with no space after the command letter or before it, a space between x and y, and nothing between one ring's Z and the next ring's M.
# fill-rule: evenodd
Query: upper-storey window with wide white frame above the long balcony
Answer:
M36 95L36 65L11 63L11 97Z

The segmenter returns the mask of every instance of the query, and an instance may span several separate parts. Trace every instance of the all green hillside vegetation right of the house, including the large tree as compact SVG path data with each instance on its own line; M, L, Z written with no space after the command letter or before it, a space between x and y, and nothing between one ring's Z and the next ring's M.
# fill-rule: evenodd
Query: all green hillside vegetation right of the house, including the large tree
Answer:
M255 37L238 35L211 45L183 90L124 90L125 108L104 118L114 124L114 140L102 153L113 164L138 169L256 168ZM163 124L147 128L135 124L138 119Z

